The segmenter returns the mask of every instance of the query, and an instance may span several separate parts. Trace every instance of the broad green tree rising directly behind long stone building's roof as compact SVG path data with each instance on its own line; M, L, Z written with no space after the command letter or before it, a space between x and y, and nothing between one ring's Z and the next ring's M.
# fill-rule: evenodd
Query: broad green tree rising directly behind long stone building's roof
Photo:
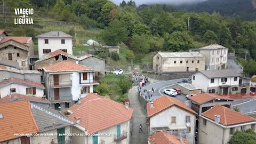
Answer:
M176 31L171 35L165 34L164 39L164 49L166 51L187 51L194 48L193 38L187 31Z

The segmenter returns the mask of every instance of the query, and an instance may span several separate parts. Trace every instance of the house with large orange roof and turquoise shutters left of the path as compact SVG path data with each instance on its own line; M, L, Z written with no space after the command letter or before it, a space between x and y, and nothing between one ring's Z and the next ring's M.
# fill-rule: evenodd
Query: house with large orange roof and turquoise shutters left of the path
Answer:
M67 113L75 123L72 133L85 135L73 137L73 143L130 143L133 109L129 107L129 101L123 105L90 93L70 107Z

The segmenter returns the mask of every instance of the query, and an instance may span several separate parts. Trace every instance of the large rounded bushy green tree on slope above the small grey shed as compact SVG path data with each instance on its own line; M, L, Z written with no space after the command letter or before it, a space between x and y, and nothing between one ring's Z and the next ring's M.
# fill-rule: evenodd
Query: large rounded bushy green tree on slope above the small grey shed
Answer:
M127 29L124 22L119 20L113 20L109 23L108 27L105 27L100 36L107 45L117 45L120 42L127 41Z

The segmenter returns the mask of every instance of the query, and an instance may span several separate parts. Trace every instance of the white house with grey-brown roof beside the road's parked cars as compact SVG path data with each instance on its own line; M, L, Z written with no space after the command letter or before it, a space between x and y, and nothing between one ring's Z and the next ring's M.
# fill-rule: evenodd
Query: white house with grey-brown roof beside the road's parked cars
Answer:
M198 71L191 79L192 85L201 87L207 93L227 95L250 92L251 78L231 69Z

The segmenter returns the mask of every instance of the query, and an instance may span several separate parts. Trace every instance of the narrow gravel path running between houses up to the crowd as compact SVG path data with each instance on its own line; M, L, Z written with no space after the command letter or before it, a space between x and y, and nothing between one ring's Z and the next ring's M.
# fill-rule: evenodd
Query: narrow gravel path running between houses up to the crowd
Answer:
M147 126L146 126L146 111L140 105L138 99L137 86L133 86L129 90L128 96L130 99L130 107L134 109L131 120L131 144L146 144L147 139ZM139 125L142 125L142 131L139 133Z

